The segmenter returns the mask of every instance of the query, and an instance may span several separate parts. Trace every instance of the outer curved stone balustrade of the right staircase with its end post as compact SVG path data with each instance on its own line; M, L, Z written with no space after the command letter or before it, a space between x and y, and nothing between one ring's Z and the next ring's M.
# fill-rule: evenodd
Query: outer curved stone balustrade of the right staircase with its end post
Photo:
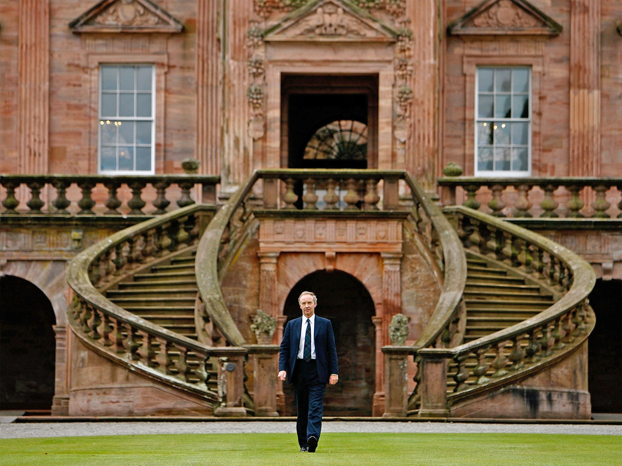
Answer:
M588 295L595 284L590 264L569 249L519 226L464 206L443 209L455 217L465 249L506 263L536 282L555 288L561 298L519 324L452 348L424 348L419 416L447 413L447 403L477 395L548 367L587 338L593 328ZM509 354L506 345L511 343ZM475 357L468 368L466 359ZM457 364L454 393L447 396L447 364ZM489 373L492 372L492 373ZM471 380L470 383L467 383Z

